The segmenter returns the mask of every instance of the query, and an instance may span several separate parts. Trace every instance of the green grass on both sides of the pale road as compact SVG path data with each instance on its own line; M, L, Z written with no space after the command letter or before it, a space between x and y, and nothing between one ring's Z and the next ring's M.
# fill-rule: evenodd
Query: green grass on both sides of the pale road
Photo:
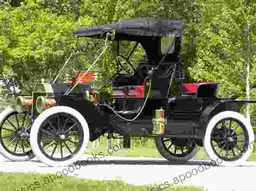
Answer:
M106 137L101 137L97 140L97 147L93 148L93 143L89 142L86 154L96 154L99 152L105 155L112 156L126 156L126 157L147 157L147 158L163 158L155 146L154 140L131 140L131 149L123 149L122 144L119 144L118 139L112 139L111 145L114 150L107 149L107 139ZM196 160L208 159L204 149L201 147L197 155ZM250 157L251 161L256 161L256 153L252 153ZM83 180L77 179L75 177L61 177L55 178L52 174L51 181L49 179L51 174L23 174L23 173L0 173L0 190L7 191L78 191L78 190L122 190L122 191L132 191L132 190L144 190L147 191L150 188L152 190L159 191L155 186L134 186L128 185L127 183L121 181L100 181L100 180ZM29 189L30 186L30 189ZM34 189L35 188L35 189ZM176 187L176 188L166 188L165 191L203 191L203 189L195 187Z

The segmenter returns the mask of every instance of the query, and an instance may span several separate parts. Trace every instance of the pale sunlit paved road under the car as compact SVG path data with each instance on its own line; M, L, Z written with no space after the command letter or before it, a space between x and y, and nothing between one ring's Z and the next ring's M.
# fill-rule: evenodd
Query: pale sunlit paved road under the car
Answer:
M91 157L91 158L90 158ZM92 155L83 155L73 167L48 167L37 158L27 162L13 162L0 156L1 172L53 173L61 171L68 176L98 180L122 180L134 185L152 185L177 178L183 185L207 188L209 191L255 190L256 162L246 162L239 167L209 166L210 161L170 162L155 158L128 158L106 156L91 161ZM201 167L199 167L201 165ZM66 169L66 170L64 170ZM196 169L196 170L193 170ZM186 174L187 173L187 174ZM191 174L193 173L193 174ZM190 177L190 178L186 178ZM161 187L162 188L162 187Z

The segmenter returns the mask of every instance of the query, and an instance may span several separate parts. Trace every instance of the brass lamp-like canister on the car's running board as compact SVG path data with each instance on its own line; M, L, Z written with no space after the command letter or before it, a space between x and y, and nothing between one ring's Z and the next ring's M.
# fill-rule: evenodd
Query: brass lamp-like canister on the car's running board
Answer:
M155 110L155 118L153 122L153 134L164 134L165 133L165 110Z

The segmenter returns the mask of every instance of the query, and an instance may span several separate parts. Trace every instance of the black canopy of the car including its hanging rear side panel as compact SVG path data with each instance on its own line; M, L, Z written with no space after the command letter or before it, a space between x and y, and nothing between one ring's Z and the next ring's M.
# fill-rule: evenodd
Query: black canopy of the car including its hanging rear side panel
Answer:
M156 65L163 57L160 51L160 38L175 37L179 43L175 44L175 51L170 54L172 61L177 61L182 43L183 21L160 18L139 18L128 21L112 22L111 24L85 27L75 30L73 36L90 38L106 38L107 32L115 30L115 40L136 41L146 51L147 58ZM170 44L171 45L171 44Z

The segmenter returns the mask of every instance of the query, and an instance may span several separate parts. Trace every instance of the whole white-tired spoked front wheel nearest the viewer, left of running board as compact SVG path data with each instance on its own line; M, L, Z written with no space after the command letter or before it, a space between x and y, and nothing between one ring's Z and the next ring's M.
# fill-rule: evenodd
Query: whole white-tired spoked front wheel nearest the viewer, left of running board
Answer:
M35 155L48 166L75 163L85 152L89 128L75 109L56 106L45 110L33 123L30 133Z

